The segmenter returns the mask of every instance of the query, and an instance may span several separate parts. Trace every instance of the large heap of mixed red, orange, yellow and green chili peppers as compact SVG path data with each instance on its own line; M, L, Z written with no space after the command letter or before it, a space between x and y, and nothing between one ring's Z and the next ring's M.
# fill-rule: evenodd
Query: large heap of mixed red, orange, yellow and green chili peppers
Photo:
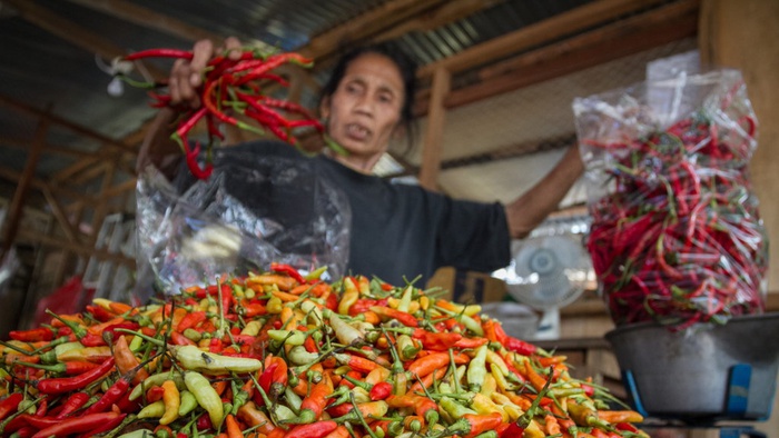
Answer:
M641 416L480 306L285 265L1 342L13 437L645 437Z

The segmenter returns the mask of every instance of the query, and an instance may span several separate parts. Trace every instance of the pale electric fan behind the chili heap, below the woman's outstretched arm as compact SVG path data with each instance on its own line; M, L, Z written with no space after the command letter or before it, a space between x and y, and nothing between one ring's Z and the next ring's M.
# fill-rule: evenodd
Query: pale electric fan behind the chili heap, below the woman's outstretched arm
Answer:
M560 337L560 308L592 281L592 261L575 235L530 237L512 242L511 263L492 273L517 302L543 316L534 339Z

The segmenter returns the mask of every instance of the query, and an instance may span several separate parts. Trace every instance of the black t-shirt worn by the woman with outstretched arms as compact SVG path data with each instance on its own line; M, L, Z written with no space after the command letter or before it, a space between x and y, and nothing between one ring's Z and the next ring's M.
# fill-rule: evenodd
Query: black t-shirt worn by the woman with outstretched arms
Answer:
M219 149L215 166L247 151L303 160L346 195L352 209L347 273L376 276L394 285L422 276L416 285L424 285L443 266L487 272L509 265L509 228L497 202L454 200L393 183L325 156L306 157L276 141Z

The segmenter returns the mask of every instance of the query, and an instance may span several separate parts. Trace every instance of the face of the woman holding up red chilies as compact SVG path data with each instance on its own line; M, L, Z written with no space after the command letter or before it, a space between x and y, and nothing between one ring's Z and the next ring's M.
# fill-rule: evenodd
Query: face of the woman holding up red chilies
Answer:
M333 96L322 102L329 136L372 168L401 121L404 86L397 66L378 53L353 60ZM371 169L363 169L369 171Z

